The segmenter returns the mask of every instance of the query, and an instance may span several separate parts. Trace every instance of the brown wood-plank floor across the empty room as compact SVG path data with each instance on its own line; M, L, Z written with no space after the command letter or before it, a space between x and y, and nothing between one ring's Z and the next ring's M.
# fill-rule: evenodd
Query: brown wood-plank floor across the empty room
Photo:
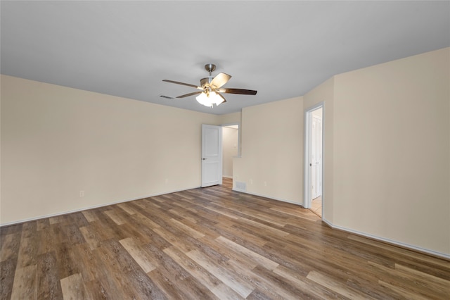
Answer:
M224 185L1 228L1 299L450 299L450 262Z

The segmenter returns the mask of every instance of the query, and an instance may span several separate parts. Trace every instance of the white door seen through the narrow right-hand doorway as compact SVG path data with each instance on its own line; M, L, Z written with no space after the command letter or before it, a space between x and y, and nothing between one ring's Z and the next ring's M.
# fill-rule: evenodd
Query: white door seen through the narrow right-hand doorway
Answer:
M322 120L313 115L311 136L311 199L322 194Z

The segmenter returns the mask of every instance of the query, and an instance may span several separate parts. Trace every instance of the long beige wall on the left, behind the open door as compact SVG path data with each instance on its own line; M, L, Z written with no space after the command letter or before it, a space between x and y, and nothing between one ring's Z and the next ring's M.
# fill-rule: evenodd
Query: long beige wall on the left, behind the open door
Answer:
M199 187L201 124L218 122L2 75L0 222Z

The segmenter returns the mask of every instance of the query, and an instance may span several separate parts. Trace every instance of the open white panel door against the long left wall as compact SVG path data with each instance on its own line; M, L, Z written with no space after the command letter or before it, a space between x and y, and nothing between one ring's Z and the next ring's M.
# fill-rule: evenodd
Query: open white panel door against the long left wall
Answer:
M202 187L222 184L222 127L202 125Z

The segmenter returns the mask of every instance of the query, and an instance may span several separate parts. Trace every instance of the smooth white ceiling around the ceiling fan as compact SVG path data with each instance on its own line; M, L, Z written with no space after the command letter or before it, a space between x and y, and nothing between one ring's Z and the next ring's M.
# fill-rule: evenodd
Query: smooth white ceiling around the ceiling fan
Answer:
M1 73L224 114L329 77L450 46L450 1L1 1ZM214 63L225 104L195 92Z

